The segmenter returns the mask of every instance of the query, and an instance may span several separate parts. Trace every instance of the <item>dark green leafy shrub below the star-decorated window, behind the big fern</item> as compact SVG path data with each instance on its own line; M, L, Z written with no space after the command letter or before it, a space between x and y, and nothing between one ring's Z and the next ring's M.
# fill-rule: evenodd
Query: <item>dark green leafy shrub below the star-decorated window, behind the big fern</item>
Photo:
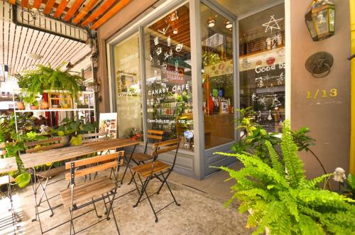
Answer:
M240 117L236 119L237 129L244 131L244 136L232 146L236 153L251 153L258 155L259 158L269 162L268 147L266 143L272 146L280 143L280 138L275 137L277 133L268 133L262 126L253 122L255 112L251 107L239 110Z

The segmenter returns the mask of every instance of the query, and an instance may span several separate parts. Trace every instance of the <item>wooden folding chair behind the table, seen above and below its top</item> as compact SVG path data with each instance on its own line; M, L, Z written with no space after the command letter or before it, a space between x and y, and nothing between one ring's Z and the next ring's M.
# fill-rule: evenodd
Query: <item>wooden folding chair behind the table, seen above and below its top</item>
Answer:
M64 144L60 143L60 141L62 141L62 138L58 137L58 138L50 138L50 139L43 140L43 141L26 142L24 145L25 145L25 148L26 148L26 153L38 153L40 151L47 151L47 150L50 150L50 149L63 147ZM35 176L38 178L38 182L39 182L38 187L40 186L42 188L42 195L40 195L40 201L38 202L38 207L42 203L43 197L45 197L45 201L47 201L48 207L50 208L50 211L52 212L50 214L50 217L52 217L54 213L53 213L53 208L50 206L50 202L48 200L48 197L45 194L45 188L48 185L54 184L55 182L59 182L61 180L64 180L64 178L62 178L60 180L55 180L54 182L48 183L48 180L50 180L50 178L52 178L52 177L54 177L56 175L60 175L61 173L65 172L65 166L64 165L59 166L57 168L52 168L52 166L53 166L53 163L52 163L52 165L50 165L48 170L43 170L43 171L35 173ZM43 180L45 180L45 184L44 185L42 184ZM53 197L57 197L57 196L59 196L59 194L55 195Z

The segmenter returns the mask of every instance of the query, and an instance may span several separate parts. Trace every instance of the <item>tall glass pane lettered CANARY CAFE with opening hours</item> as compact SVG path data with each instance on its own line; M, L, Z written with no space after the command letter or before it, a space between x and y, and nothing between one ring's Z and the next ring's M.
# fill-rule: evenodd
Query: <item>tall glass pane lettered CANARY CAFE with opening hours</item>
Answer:
M190 16L188 4L144 28L148 129L182 137L193 151Z

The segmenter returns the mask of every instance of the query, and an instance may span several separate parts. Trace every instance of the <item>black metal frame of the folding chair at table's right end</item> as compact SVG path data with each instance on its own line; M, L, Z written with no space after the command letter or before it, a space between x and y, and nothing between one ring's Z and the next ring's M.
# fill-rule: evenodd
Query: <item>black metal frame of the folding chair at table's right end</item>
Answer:
M163 142L160 142L160 143L155 143L153 145L153 147L155 147L155 151L153 153L154 158L153 158L153 161L152 161L151 175L146 177L146 180L143 182L143 180L141 179L141 176L139 174L137 174L138 177L139 177L139 180L141 181L141 183L143 185L142 188L141 188L141 191L138 190L138 184L136 183L136 180L133 178L133 182L135 183L136 188L137 188L137 190L139 192L139 197L138 197L137 203L133 205L133 208L137 207L140 202L143 202L143 200L148 199L148 202L151 205L151 209L152 209L152 211L154 213L154 216L155 216L155 222L158 222L157 214L159 212L161 212L163 209L165 209L168 206L170 206L170 204L173 204L175 202L175 204L180 207L180 204L175 199L175 196L173 195L173 191L171 191L170 186L169 186L168 181L167 181L168 177L170 176L170 173L172 173L172 171L173 171L173 169L175 167L176 158L178 156L178 150L179 150L179 146L180 146L180 139L178 139L176 141L177 142L175 144L177 144L177 146L176 146L176 151L175 151L175 157L174 157L174 160L173 160L173 165L171 165L171 167L168 170L160 171L160 173L158 173L158 174L153 173L154 172L155 161L158 159L158 155L159 155L159 151L160 151L160 144L163 144L164 143L164 141L163 141ZM168 141L165 141L165 142L168 142ZM149 164L149 163L146 163L146 164ZM153 180L154 178L158 179L162 183L161 183L160 187L158 188L157 192L153 193L152 195L148 195L148 193L146 191L146 188L148 187L149 182L151 182L151 180ZM168 187L170 195L171 195L171 197L173 197L173 202L170 202L165 207L155 211L150 197L152 197L155 194L159 195L160 190L163 188L164 184ZM146 197L142 199L143 194L145 194Z

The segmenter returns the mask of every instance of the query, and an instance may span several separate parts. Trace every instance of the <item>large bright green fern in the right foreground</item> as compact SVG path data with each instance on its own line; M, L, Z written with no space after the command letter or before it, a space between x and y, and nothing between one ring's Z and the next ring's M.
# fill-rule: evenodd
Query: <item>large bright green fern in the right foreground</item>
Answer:
M219 153L244 164L238 171L220 168L236 180L226 204L239 200L239 212L251 212L247 226L256 227L253 234L263 234L266 227L271 234L354 233L355 206L348 202L355 201L319 187L332 174L306 179L288 121L280 143L283 158L268 141L266 146L271 165L258 155Z

